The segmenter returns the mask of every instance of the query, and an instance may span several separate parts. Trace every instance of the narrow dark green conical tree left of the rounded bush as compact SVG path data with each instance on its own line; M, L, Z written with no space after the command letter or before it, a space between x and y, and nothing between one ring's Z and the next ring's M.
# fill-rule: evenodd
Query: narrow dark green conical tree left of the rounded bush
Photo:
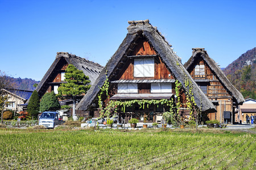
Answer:
M30 97L30 101L28 102L28 105L27 105L28 114L30 114L31 116L38 116L39 107L40 107L40 100L39 100L38 92L34 90L34 92L32 92L32 95Z

